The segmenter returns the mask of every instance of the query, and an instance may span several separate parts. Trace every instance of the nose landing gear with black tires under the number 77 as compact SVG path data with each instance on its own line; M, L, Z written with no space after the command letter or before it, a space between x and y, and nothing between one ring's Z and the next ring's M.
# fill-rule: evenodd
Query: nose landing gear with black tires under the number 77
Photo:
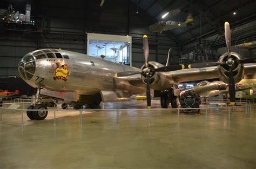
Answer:
M31 120L43 120L48 115L48 109L44 104L39 102L40 89L37 89L36 96L32 96L32 105L30 105L26 111L26 115ZM35 110L35 111L32 111Z

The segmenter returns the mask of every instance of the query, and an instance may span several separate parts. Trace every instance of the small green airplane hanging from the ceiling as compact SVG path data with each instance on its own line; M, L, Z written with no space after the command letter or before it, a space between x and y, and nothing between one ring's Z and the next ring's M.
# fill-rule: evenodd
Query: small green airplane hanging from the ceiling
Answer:
M186 27L187 25L191 25L192 22L193 22L193 17L191 15L191 13L189 13L185 22L158 21L157 23L150 25L149 29L152 32L160 32L161 33L163 31L167 31L167 30Z

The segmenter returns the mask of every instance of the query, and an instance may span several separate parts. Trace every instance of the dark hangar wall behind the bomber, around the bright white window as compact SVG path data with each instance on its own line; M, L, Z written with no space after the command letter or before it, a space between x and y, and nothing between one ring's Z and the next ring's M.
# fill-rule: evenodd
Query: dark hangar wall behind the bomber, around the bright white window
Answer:
M12 3L23 11L24 5L15 1L2 3L5 8ZM113 10L114 9L114 10ZM17 76L17 64L28 52L44 48L61 48L86 53L86 32L132 36L132 65L143 65L142 37L147 34L150 44L149 60L165 64L169 48L178 63L178 42L169 36L156 35L147 29L153 24L145 12L136 14L130 1L109 0L100 8L98 1L32 1L31 16L37 16L34 27L14 28L0 23L0 76ZM76 13L76 15L73 15Z

